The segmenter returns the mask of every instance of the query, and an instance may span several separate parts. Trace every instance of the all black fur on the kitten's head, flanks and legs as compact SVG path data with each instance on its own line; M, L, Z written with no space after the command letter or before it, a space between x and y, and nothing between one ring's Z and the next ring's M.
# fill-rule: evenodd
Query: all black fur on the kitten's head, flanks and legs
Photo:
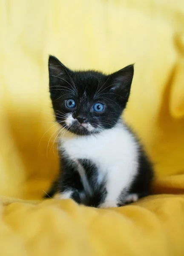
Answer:
M50 56L49 89L56 120L62 127L80 136L90 136L90 134L98 134L105 129L113 128L129 99L133 73L133 65L111 75L90 70L72 71L57 58ZM75 101L75 108L67 108L67 99ZM104 105L102 112L93 111L93 105L96 102ZM72 117L76 118L70 126L65 122L68 113L72 113ZM81 118L85 118L95 129L89 131L81 127ZM140 145L138 174L129 189L121 192L118 198L119 206L126 203L125 197L129 193L136 193L139 198L150 194L150 184L153 178L152 165L141 144L138 144ZM69 190L72 191L71 198L77 203L98 207L106 197L106 177L98 184L98 168L95 163L87 159L78 159L78 163L85 170L90 186L90 191L88 191L83 186L78 164L72 161L65 152L60 152L60 154L61 173L46 197L52 197L56 192L62 193Z

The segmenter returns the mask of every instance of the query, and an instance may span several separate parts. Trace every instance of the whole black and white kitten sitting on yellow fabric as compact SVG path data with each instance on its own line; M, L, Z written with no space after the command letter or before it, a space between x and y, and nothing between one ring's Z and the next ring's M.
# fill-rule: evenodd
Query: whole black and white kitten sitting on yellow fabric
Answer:
M152 166L121 119L133 73L133 65L110 75L72 71L49 57L55 117L74 136L60 141L61 172L48 197L108 208L149 195Z

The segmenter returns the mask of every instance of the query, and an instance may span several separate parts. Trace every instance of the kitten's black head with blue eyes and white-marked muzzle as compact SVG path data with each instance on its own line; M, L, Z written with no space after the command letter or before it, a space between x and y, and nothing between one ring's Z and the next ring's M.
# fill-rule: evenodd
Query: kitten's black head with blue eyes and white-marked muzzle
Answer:
M133 73L133 65L110 75L72 71L50 56L49 89L56 120L78 135L112 128L126 107Z

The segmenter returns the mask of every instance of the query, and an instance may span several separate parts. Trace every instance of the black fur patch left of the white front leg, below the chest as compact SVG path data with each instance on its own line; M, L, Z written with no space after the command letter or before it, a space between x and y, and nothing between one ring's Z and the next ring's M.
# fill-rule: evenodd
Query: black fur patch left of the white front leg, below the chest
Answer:
M78 161L85 169L91 193L83 187L76 163L72 162L68 156L66 157L63 154L63 158L60 160L62 172L53 183L50 191L45 195L45 198L53 197L56 192L62 193L72 190L71 198L78 204L98 207L106 196L105 180L98 185L98 169L95 164L87 159L79 159Z

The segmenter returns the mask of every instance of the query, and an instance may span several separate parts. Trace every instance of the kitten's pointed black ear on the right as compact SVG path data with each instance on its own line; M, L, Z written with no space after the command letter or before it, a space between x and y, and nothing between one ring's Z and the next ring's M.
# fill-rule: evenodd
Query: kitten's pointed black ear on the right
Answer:
M122 96L128 101L130 88L134 74L134 65L129 65L111 75L111 91Z

